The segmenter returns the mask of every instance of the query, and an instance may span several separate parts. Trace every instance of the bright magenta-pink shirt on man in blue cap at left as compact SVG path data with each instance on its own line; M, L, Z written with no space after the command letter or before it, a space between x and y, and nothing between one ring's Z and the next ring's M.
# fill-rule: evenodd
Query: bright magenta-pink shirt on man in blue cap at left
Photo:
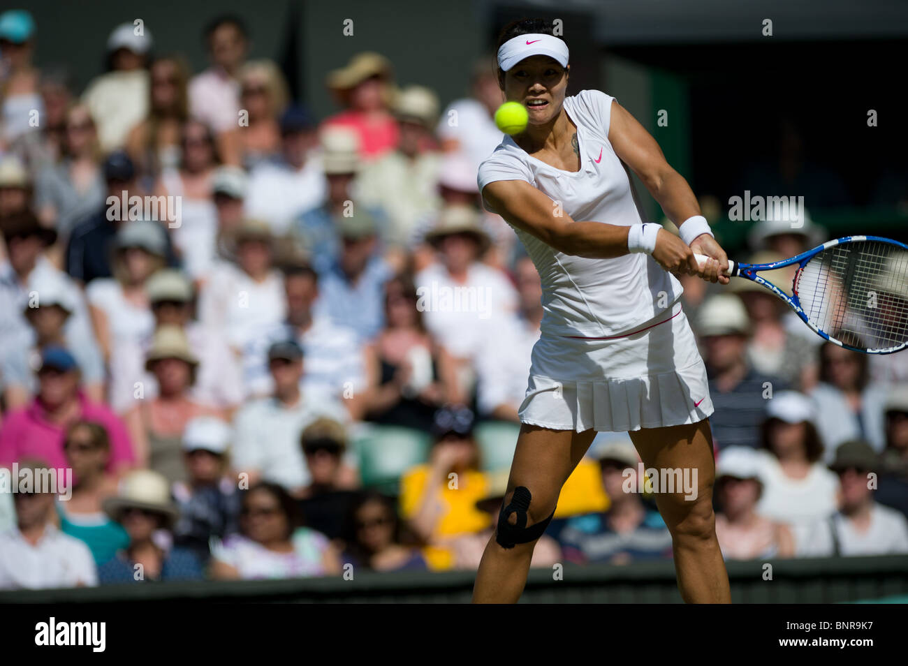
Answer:
M104 405L89 402L79 395L81 418L94 421L107 430L111 455L108 471L115 471L135 461L133 444L126 426ZM64 428L44 418L44 407L37 398L31 405L11 412L0 427L0 465L12 465L23 458L38 458L51 467L65 467Z

